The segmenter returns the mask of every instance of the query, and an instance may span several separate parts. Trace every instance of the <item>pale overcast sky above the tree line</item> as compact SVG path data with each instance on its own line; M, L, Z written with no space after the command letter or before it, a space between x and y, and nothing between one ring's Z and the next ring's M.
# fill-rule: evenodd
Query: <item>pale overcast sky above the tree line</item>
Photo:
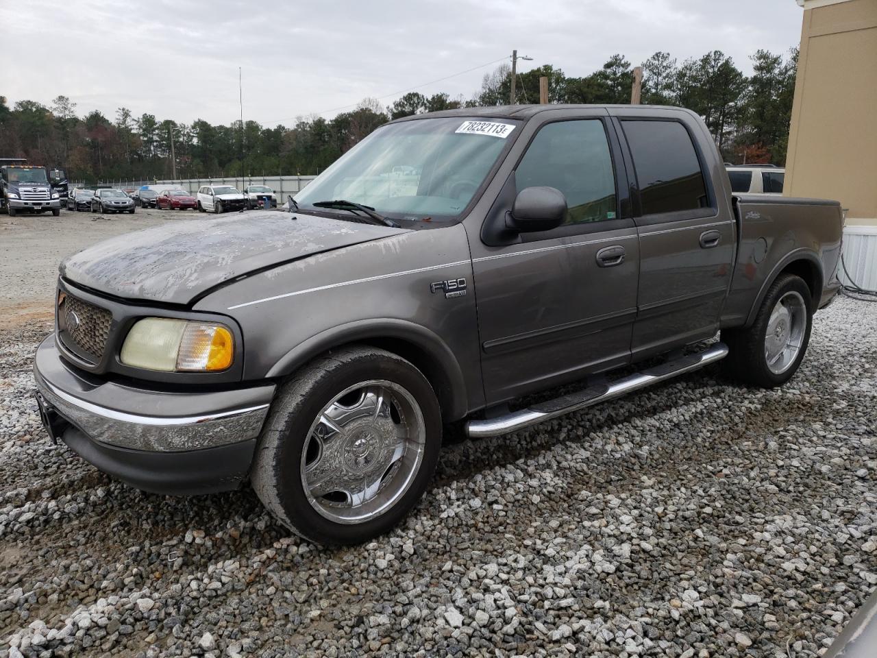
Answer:
M138 9L134 9L134 7ZM331 118L396 92L471 97L512 48L566 75L611 54L638 64L718 49L750 73L758 48L785 53L801 34L795 0L28 0L0 3L0 95L43 104L63 94L77 114L119 106L135 117L292 125ZM468 68L490 66L458 74ZM446 80L424 83L449 75Z

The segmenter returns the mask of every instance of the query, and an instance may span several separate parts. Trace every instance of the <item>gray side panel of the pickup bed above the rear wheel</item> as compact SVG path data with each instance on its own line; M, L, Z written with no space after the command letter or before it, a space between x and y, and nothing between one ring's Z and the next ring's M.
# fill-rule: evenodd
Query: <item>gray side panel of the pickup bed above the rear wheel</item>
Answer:
M724 305L723 327L752 324L767 288L787 271L801 276L813 293L813 310L831 301L843 235L837 201L735 195L738 259Z

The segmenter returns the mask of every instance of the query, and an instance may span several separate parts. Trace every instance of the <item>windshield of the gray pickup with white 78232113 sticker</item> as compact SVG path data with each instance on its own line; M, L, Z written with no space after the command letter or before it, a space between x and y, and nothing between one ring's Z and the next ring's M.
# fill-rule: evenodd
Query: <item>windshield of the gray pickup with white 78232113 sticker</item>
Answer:
M394 219L458 218L517 128L510 119L426 118L378 128L296 195L302 210L348 199Z

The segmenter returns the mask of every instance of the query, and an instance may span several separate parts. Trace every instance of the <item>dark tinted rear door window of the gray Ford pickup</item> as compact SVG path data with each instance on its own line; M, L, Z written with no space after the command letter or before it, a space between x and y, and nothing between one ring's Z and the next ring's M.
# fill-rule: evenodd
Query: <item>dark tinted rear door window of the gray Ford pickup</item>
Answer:
M685 126L677 121L623 123L637 172L643 215L709 206L701 163Z

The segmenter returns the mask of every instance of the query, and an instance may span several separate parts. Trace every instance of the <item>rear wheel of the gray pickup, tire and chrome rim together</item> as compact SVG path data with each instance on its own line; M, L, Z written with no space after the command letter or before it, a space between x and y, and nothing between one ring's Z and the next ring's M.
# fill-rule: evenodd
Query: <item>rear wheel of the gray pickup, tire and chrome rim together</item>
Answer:
M722 332L729 348L728 373L764 388L788 382L807 352L813 325L810 298L800 276L780 275L767 290L752 326Z

